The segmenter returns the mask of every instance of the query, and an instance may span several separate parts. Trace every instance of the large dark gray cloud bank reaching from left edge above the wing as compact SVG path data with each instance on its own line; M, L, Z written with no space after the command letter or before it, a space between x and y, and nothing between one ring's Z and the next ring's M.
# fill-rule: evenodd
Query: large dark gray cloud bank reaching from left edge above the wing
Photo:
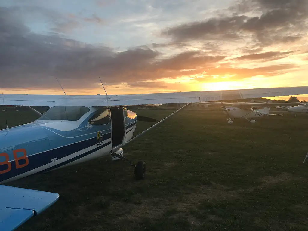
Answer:
M9 11L8 8L0 9ZM13 19L11 14L0 16L1 87L58 87L52 76L64 82L68 79L66 82L70 82L71 88L93 87L99 76L109 84L133 84L175 78L181 75L182 69L215 66L225 58L183 52L160 59L160 52L146 46L115 52L109 47L92 46L59 35L33 34L26 26L20 25L20 21Z

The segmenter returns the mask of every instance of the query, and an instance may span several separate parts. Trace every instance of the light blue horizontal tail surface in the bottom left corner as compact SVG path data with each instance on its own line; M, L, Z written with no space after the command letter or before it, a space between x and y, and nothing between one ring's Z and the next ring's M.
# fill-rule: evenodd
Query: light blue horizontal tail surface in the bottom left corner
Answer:
M58 199L58 193L0 185L0 230L18 228Z

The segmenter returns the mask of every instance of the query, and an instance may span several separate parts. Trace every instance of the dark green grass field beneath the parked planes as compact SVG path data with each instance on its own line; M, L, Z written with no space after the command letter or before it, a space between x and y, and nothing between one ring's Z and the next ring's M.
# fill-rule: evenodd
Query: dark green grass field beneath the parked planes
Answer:
M1 111L0 126L35 117ZM181 111L123 148L146 162L145 180L104 158L7 184L60 194L18 230L308 230L307 128L304 115L229 125L221 111Z

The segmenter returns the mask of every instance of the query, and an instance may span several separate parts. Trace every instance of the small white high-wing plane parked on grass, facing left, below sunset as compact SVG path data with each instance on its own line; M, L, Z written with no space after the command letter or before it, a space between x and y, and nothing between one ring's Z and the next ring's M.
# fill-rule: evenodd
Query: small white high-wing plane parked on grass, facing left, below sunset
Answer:
M250 123L257 123L255 118L261 118L264 116L278 116L278 114L270 114L270 108L274 105L294 105L298 103L271 103L272 101L268 101L268 103L261 102L247 102L247 103L218 103L218 102L199 102L200 104L209 104L209 105L220 105L223 109L225 115L229 118L227 119L229 124L233 124L235 119L246 119ZM231 105L231 107L226 107L225 105ZM282 115L279 115L282 116Z

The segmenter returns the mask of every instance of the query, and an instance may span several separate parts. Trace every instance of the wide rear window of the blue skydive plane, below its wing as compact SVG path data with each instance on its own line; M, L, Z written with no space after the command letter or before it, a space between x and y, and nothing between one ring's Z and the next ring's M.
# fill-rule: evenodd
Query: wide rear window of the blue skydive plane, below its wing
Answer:
M55 106L49 108L39 119L37 120L69 120L77 121L90 111L87 107L81 106Z

